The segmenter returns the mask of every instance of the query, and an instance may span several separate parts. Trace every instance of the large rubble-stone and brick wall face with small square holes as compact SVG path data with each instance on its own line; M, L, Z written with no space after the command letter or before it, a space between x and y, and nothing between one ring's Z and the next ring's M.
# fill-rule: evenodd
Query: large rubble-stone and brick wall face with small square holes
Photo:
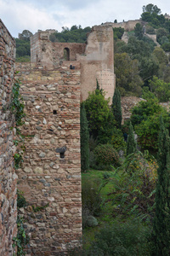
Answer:
M82 236L80 71L30 63L16 69L26 104L26 150L17 174L29 205L23 210L31 236L27 254L60 255ZM65 158L56 148L66 148Z

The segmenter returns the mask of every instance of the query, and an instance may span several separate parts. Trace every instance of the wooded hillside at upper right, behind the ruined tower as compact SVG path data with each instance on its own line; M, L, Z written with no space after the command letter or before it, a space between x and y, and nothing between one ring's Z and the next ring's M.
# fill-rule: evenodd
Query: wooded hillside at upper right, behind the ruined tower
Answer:
M151 84L158 80L169 87L170 20L150 3L143 6L141 21L132 32L127 32L127 44L115 37L116 86L122 96L142 96L145 86L155 93ZM117 34L118 28L113 30ZM119 31L122 32L121 27ZM150 35L155 35L156 42ZM167 98L159 97L159 100L163 102Z

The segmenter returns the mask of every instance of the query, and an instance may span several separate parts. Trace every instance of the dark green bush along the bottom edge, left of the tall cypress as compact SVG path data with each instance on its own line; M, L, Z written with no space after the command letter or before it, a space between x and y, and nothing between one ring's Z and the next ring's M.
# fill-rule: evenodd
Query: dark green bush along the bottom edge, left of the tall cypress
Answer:
M150 229L138 221L115 222L95 236L87 255L146 256L150 255Z

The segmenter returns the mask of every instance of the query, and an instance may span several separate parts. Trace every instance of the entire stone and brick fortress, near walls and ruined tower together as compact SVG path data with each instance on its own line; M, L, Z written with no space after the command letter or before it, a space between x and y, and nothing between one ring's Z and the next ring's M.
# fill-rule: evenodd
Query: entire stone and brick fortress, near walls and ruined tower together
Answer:
M37 32L31 38L31 63L15 67L20 71L16 78L21 80L20 93L26 106L25 125L21 128L26 136L24 162L17 174L18 189L28 202L26 209L21 209L26 233L31 237L27 255L63 255L69 244L74 246L80 241L80 102L88 97L88 91L95 90L96 79L106 97L112 98L115 90L111 26L94 26L88 44L52 43L48 40L51 32ZM14 40L5 26L1 33L1 95L8 109L14 79ZM8 249L12 252L17 215L17 175L13 169L13 134L9 130L12 121L7 114L2 112L0 123L2 256L10 255Z

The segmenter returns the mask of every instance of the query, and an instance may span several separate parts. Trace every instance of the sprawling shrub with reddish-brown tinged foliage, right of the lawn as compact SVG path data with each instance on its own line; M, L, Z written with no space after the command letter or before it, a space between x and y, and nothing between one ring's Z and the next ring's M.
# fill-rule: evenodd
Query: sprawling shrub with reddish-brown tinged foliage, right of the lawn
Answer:
M153 218L156 170L156 160L149 158L148 151L127 155L123 165L111 177L113 191L110 198L114 215Z

